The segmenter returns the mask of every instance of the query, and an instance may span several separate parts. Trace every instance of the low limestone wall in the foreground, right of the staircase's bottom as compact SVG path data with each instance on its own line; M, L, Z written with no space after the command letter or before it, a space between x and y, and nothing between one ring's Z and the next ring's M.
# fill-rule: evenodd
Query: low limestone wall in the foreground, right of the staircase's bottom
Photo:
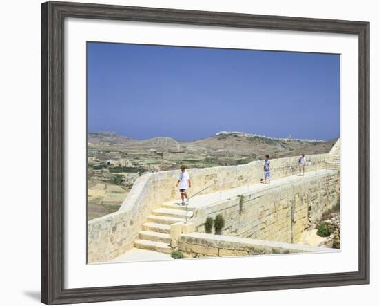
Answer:
M246 256L309 252L336 252L336 249L285 242L238 238L207 233L187 233L179 237L178 249L192 256Z

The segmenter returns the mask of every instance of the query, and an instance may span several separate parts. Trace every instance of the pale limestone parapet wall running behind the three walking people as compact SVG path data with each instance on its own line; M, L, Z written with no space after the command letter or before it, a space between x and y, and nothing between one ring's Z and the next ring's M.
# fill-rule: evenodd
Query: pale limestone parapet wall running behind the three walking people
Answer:
M307 162L310 164L307 169L320 169L322 164L331 159L330 153L308 155ZM296 173L297 165L298 157L273 159L272 178ZM212 193L260 182L260 178L263 178L263 161L239 166L189 169L188 172L192 179L189 195ZM119 211L88 221L88 262L104 262L131 249L150 212L163 202L179 198L176 189L178 174L179 171L162 171L141 176Z

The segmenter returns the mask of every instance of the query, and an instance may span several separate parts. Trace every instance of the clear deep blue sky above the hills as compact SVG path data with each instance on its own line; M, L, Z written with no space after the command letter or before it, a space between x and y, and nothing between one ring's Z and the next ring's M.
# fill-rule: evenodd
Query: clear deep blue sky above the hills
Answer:
M88 43L88 131L339 137L340 57Z

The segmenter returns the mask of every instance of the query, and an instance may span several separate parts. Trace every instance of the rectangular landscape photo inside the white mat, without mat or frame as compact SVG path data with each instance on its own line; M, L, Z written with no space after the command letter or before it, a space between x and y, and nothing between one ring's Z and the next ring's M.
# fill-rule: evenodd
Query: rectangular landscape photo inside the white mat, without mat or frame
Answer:
M339 54L86 48L88 264L340 251Z

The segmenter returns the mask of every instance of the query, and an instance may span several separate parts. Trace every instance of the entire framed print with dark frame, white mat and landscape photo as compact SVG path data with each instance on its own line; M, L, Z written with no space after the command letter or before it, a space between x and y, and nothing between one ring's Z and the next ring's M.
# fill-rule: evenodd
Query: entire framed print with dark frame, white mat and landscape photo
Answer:
M42 4L42 301L369 283L369 23Z

